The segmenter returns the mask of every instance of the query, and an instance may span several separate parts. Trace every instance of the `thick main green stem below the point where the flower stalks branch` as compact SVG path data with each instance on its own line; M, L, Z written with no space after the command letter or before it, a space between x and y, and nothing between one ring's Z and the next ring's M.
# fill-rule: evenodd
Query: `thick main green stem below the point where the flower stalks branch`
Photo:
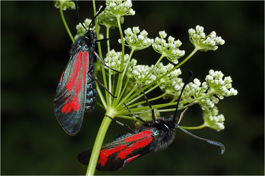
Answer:
M100 154L100 149L101 149L103 140L105 138L105 135L107 133L107 129L108 129L111 121L112 120L110 118L105 116L101 125L100 125L100 129L98 130L97 137L96 137L94 147L93 147L93 150L91 153L91 157L89 160L89 164L87 167L86 175L94 175L94 173L95 173L98 156Z

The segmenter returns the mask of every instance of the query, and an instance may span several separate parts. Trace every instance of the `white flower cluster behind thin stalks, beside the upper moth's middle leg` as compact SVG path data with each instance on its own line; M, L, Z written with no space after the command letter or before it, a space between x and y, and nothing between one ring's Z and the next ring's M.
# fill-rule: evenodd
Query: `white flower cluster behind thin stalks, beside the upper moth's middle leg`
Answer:
M122 66L122 70L125 69L126 63L129 60L129 55L126 54L124 55L124 61L121 63L121 58L122 58L122 52L115 52L115 50L110 51L110 64L109 64L109 57L108 54L106 54L105 57L105 62L106 65L111 67L114 70L120 70L120 67ZM134 59L135 60L135 59ZM105 67L105 69L110 70ZM110 70L111 74L116 74L117 72Z

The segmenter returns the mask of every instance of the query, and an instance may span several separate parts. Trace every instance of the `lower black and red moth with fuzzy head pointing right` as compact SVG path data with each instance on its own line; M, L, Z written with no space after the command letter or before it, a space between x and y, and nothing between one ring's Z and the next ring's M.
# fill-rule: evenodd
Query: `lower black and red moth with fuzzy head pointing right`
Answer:
M191 70L189 70L189 76L181 90L174 116L170 116L168 118L156 119L154 110L150 105L148 99L146 98L144 91L142 91L142 93L145 97L146 102L151 108L153 119L148 121L140 119L139 117L135 116L135 114L133 114L130 111L130 109L127 107L127 105L124 103L124 105L130 111L130 113L133 116L135 116L136 119L142 121L143 124L134 130L127 131L121 134L120 136L117 136L111 143L102 145L99 158L97 161L97 166L96 166L97 170L116 171L124 167L128 163L132 162L133 160L143 156L144 154L147 154L151 151L158 152L166 149L173 142L175 138L176 127L178 127L179 129L183 130L185 133L193 136L196 139L219 146L221 148L221 154L223 154L225 151L225 147L223 146L223 144L197 137L189 133L185 129L181 128L180 126L178 126L180 122L180 120L176 118L178 104L180 101L180 97L183 93L183 90L185 86L188 84L188 82L191 80L191 78L192 78L192 72ZM140 85L138 86L140 87ZM186 109L183 112L185 112ZM182 116L183 113L181 114L180 119L182 118ZM117 122L116 120L114 121ZM117 123L121 124L120 122ZM122 125L126 126L124 124ZM129 128L128 126L126 127ZM78 155L77 159L82 164L88 165L91 152L92 149L82 152Z

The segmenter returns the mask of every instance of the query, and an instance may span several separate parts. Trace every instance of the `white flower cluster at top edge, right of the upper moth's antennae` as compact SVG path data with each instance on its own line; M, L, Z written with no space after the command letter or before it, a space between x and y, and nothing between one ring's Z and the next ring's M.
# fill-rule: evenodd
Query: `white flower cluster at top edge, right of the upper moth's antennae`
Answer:
M106 1L105 12L110 17L123 17L124 15L134 15L135 11L131 9L132 1Z

